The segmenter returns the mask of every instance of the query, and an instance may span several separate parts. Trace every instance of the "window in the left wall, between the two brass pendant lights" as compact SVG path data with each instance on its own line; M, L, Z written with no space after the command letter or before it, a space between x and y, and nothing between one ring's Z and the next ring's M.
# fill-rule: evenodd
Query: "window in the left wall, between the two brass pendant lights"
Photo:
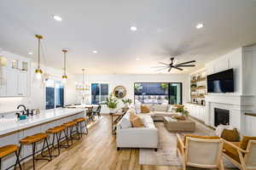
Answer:
M64 106L64 86L60 81L48 79L45 83L45 109Z

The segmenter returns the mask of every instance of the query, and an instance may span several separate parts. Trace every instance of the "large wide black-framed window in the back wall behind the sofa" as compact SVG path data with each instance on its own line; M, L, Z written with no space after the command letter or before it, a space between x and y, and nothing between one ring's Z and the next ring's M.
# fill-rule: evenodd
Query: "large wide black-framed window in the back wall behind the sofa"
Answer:
M182 105L181 82L136 82L134 99L142 104Z

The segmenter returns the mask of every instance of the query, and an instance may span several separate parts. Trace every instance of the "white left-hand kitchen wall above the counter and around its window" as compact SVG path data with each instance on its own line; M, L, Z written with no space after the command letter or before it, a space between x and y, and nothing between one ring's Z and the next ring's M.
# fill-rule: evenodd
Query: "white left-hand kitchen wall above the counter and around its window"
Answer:
M2 54L17 55L11 54L9 52L2 52ZM34 70L36 64L32 63L31 65L31 76L29 83L29 95L27 97L0 97L0 113L16 111L18 105L26 105L30 109L44 109L45 108L45 91L44 85L40 80L35 77ZM61 80L63 71L45 67L42 65L42 70L44 73L49 73L50 78L56 80ZM70 104L74 103L76 100L76 90L75 90L75 77L71 74L67 74L68 80L65 89L65 103Z

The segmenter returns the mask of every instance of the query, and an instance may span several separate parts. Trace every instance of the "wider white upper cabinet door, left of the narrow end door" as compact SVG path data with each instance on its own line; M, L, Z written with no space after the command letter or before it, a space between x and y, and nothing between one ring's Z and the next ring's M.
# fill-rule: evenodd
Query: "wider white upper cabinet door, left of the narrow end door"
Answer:
M17 96L18 95L18 72L14 69L6 70L6 88L7 96Z

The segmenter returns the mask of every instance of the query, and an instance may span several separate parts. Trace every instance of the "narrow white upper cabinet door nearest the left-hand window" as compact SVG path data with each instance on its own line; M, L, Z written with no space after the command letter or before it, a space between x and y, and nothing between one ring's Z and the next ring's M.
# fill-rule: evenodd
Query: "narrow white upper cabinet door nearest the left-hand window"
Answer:
M27 95L27 73L20 71L18 74L18 95Z

